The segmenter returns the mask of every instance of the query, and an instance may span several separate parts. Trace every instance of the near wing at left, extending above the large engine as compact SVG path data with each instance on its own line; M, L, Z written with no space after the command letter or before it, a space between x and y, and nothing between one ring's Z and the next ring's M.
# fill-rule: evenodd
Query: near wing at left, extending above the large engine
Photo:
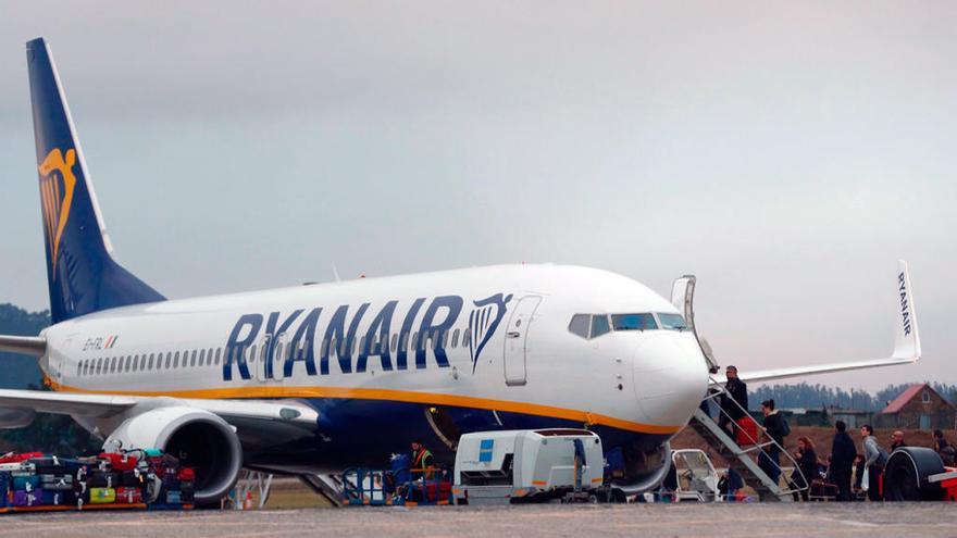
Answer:
M276 421L314 427L319 413L296 401L206 400L142 396L110 396L47 392L41 390L0 390L0 410L7 412L53 413L105 418L133 411L133 408L186 405L220 415L226 422L236 420ZM2 412L0 412L2 413Z

